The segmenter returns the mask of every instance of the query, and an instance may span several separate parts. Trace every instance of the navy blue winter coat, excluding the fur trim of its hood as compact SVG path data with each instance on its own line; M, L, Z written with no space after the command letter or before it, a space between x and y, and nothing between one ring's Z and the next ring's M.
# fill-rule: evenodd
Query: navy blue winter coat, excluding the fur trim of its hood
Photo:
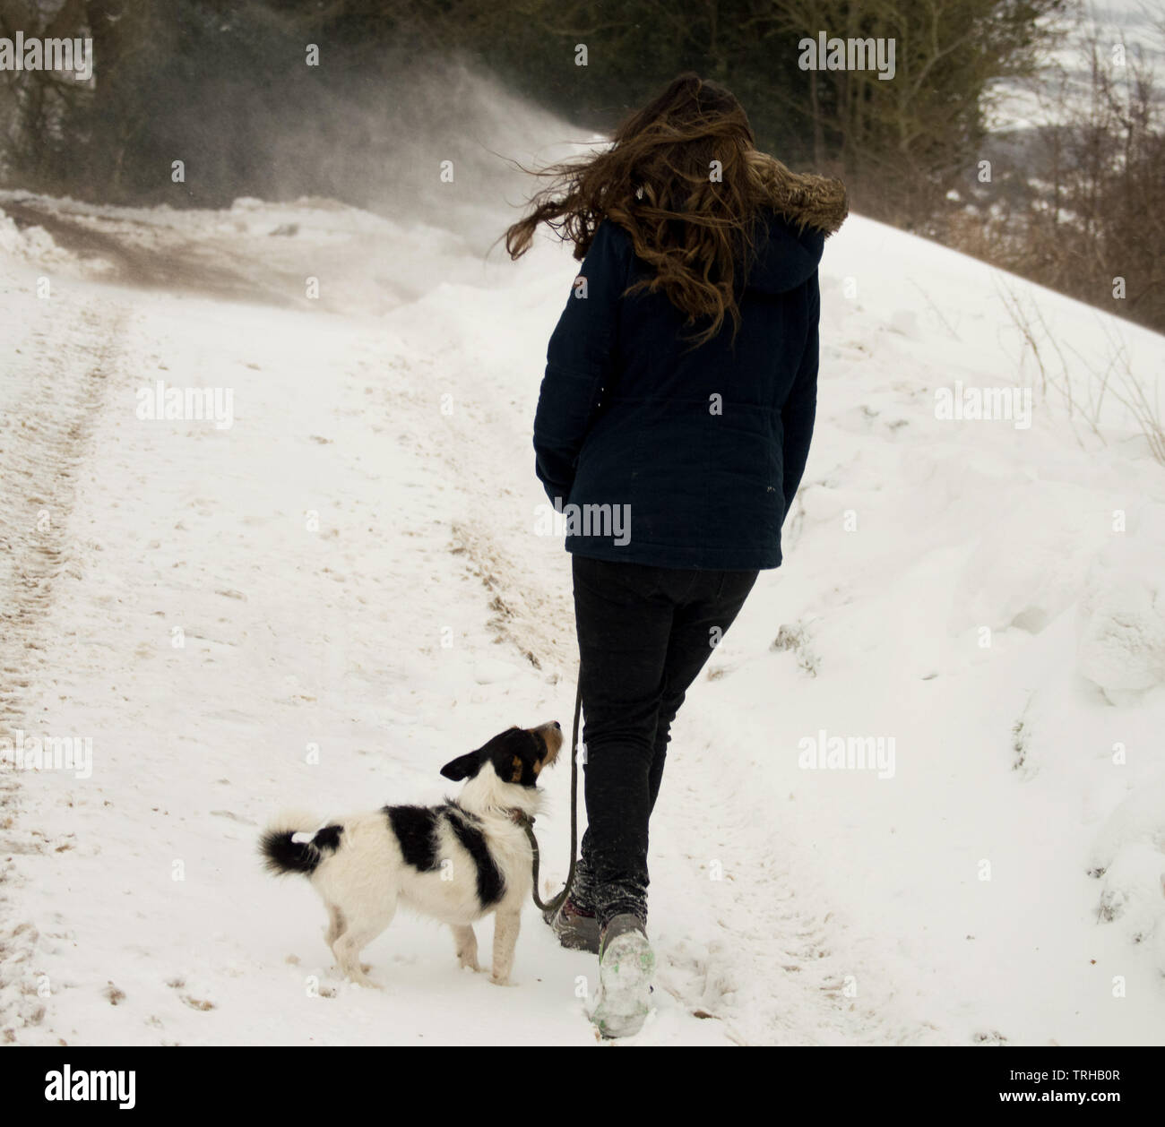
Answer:
M623 228L605 219L595 231L579 270L586 296L572 289L550 338L534 424L567 551L658 567L781 565L817 407L825 236L764 215L735 355L730 320L691 349L699 326L665 295L622 297L651 268ZM603 505L627 508L614 522L616 510L588 508Z

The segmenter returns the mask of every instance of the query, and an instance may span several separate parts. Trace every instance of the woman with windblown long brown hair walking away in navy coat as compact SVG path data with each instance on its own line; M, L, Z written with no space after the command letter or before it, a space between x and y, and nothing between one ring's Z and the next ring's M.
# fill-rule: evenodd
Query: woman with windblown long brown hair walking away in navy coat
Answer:
M679 76L507 233L538 224L582 267L550 338L536 470L566 516L588 828L549 922L599 954L595 1021L648 1013L648 821L672 721L757 573L805 469L817 404L817 267L839 180L757 151L723 86ZM569 506L569 508L567 508Z

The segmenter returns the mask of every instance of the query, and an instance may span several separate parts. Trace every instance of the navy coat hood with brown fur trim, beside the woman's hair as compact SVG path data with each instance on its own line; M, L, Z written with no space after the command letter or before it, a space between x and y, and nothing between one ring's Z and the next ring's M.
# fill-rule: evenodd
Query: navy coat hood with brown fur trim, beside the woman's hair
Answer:
M771 213L767 215L768 239L757 247L748 285L785 293L812 276L826 238L849 214L846 185L827 176L793 172L767 153L754 151L750 161Z

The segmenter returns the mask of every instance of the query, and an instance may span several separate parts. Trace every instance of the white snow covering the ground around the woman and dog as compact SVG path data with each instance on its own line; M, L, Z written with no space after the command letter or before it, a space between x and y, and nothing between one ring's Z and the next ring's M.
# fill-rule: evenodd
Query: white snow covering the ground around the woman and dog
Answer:
M594 962L532 906L513 988L402 915L361 991L255 849L281 808L436 801L502 728L569 726L530 447L567 250L320 201L35 203L175 261L230 247L232 283L207 253L135 285L0 220L0 733L92 740L87 777L0 764L0 1042L599 1043ZM1078 403L1114 340L1160 390L1159 335L859 215L828 241L785 564L675 726L627 1046L1165 1037L1165 470L1111 396L1094 430L1043 391L1004 284ZM233 426L139 418L158 380L232 389ZM1032 389L1032 425L937 418L956 381ZM892 771L802 766L821 733L892 738Z

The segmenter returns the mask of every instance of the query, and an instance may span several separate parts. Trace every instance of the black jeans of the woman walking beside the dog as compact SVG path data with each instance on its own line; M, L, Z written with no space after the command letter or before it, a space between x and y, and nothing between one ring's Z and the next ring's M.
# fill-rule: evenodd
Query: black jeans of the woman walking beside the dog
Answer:
M648 820L671 722L758 573L572 561L588 823L572 899L600 924L624 912L647 922Z

